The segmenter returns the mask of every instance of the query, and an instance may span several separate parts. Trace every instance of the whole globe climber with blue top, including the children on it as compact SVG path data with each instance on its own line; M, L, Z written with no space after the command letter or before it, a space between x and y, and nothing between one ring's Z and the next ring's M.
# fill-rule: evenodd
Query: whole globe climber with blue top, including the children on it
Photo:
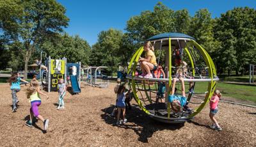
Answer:
M126 78L140 109L164 123L193 119L219 80L209 54L195 38L182 33L149 38L132 56ZM198 94L204 100L193 97Z

